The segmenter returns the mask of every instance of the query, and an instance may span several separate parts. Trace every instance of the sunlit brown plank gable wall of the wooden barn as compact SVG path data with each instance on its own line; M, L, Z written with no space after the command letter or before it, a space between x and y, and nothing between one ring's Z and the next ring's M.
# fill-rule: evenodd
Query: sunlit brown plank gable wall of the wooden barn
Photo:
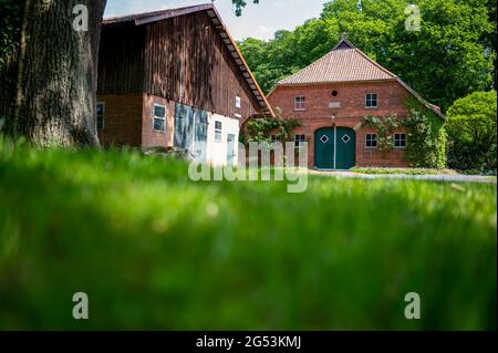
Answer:
M146 25L144 91L226 116L259 114L230 52L206 12ZM235 95L242 108L236 110Z

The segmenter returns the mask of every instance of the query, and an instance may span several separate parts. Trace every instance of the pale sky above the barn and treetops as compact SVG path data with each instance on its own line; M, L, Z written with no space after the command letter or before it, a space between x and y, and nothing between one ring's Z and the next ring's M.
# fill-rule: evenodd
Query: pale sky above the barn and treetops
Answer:
M221 14L228 31L236 40L248 37L268 40L277 30L293 30L305 20L320 15L323 3L330 0L252 0L236 17L231 0L216 0L215 6ZM210 0L107 0L105 17L141 13L172 8L207 3Z

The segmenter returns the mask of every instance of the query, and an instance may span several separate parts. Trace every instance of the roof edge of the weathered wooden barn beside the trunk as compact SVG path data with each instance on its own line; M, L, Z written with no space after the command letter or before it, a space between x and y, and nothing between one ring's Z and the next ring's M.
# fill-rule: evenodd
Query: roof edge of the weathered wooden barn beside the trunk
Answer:
M235 63L240 70L241 75L245 77L247 83L249 84L250 91L252 92L255 98L258 101L258 104L263 112L264 115L274 116L273 110L267 101L261 87L256 81L252 72L246 63L240 50L237 46L237 43L228 32L227 27L225 25L221 17L212 3L198 4L193 7L185 7L178 9L168 9L160 10L154 12L145 12L137 13L131 15L122 15L122 17L110 17L105 18L103 21L104 27L108 25L123 25L123 24L133 24L133 25L142 25L146 23L157 22L169 18L175 18L184 14L195 13L205 11L209 18L211 19L212 24L215 25L216 31L221 37L225 45L230 52Z

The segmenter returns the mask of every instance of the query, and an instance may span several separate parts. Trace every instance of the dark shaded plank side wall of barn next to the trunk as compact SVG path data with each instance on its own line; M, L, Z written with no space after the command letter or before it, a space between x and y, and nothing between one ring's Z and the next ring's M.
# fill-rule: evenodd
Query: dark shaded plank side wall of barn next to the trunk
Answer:
M98 53L98 94L144 91L145 27L102 29Z

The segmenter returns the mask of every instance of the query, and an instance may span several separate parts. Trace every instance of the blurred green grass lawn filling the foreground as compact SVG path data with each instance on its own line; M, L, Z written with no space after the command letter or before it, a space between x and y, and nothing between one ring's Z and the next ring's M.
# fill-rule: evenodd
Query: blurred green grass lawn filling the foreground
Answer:
M492 184L311 176L297 195L0 143L0 329L496 329L496 211Z

